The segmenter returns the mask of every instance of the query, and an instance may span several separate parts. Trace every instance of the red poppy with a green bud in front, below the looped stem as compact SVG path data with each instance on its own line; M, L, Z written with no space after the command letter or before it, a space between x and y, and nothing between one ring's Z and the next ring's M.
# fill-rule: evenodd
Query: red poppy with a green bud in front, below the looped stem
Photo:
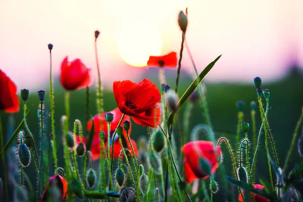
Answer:
M182 152L185 157L184 175L188 183L191 183L194 179L206 179L209 177L199 166L200 158L209 163L212 174L216 172L219 166L218 157L221 155L221 148L219 146L216 147L211 141L198 140L188 142L182 147Z

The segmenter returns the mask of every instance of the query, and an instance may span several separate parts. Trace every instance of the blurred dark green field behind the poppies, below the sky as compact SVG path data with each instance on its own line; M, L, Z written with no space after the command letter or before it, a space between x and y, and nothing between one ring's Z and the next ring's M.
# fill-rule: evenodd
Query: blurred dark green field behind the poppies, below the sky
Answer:
M258 76L258 75L256 75ZM158 85L158 78L153 76L153 74L146 75L147 79L154 81ZM256 88L252 84L252 79L249 84L238 84L238 83L206 83L207 85L207 101L210 111L211 120L215 130L224 130L229 132L236 132L237 126L237 110L235 107L235 103L237 100L241 99L245 102L245 110L244 110L244 120L245 122L251 123L250 119L250 107L249 103L252 100L257 101ZM175 80L169 79L172 87L175 85ZM180 79L180 91L179 94L183 93L186 88L192 82L192 78L188 75L182 75ZM294 127L296 122L301 114L301 108L303 106L303 90L301 87L303 86L303 75L300 73L298 69L292 69L289 71L288 75L285 75L284 79L268 82L263 80L262 88L268 88L270 90L270 106L271 110L269 111L269 123L272 129L272 134L276 141L276 147L278 150L278 157L280 159L280 164L282 165L287 154L287 150L290 145L290 141L292 138L292 134L294 132ZM46 87L46 102L45 105L49 109L49 97L48 97L48 87ZM28 100L28 108L31 109L31 112L28 117L28 125L33 135L35 136L35 142L38 145L39 142L39 128L38 128L38 118L37 118L37 107L38 107L38 98L36 92L30 91L30 98ZM19 92L18 92L19 94ZM112 91L104 92L104 106L105 111L111 111L116 108L116 101ZM22 119L23 108L21 107L20 113L18 113L15 117L14 123L9 120L9 115L2 114L2 121L4 126L4 134L6 134L6 141L8 141L12 132L15 130L17 125L20 123ZM85 123L85 89L75 91L71 93L70 97L70 114L71 119L75 120L79 119L82 121L83 127L86 127ZM95 102L95 89L91 89L90 91L90 109L91 115L96 114L96 102ZM180 110L180 116L182 118L184 111L184 107ZM258 112L258 111L257 111ZM60 118L65 114L64 109L64 91L60 86L60 83L57 82L55 84L55 120L56 120L56 139L57 139L57 147L58 147L58 157L59 157L59 166L64 167L64 159L63 159L63 145L62 145L62 130L60 124ZM259 118L260 113L257 113L257 130L259 131L261 125L261 119ZM202 110L200 105L197 104L194 107L194 114L192 114L192 118L190 120L190 131L191 129L200 123L204 123L202 116ZM49 133L51 128L49 126L50 118L47 119L47 138L49 140ZM132 123L132 134L131 137L134 140L137 140L139 136L146 136L146 129L135 123ZM70 122L70 127L72 127L72 122ZM250 127L251 128L251 127ZM301 128L299 129L299 135L301 134ZM179 135L183 134L174 134L176 141L179 139ZM248 135L251 137L251 129ZM243 135L244 136L244 135ZM200 139L205 138L203 135L199 136ZM219 135L218 135L219 137ZM232 145L235 145L235 137L233 135L229 135L228 138L231 140ZM49 142L49 141L48 141ZM178 144L178 142L177 142ZM223 145L223 144L222 144ZM265 153L264 147L264 135L261 138L261 148L258 155L257 162L257 176L263 176L266 179L268 177L268 166L267 166L267 157ZM50 145L49 145L50 146ZM295 144L296 146L296 144ZM228 151L226 148L223 148L224 153L224 165L227 170L227 174L231 175L231 161L228 155ZM49 158L51 157L51 150L49 149ZM178 158L177 158L178 159ZM295 163L300 162L300 157L297 153L296 148L293 150L293 155L291 161L289 163L288 169L293 168ZM2 164L0 165L0 171ZM30 176L30 178L35 180L35 172L34 166L31 164L28 168L24 169ZM49 173L52 175L52 173ZM3 173L1 172L1 176Z

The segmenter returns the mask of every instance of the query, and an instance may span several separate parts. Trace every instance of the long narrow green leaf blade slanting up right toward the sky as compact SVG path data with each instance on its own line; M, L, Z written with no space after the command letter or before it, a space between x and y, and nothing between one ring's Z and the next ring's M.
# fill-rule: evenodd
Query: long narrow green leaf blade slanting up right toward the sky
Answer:
M189 97L189 95L192 93L192 91L197 87L197 85L204 79L204 77L209 73L209 71L214 67L215 63L220 59L222 55L220 55L216 60L211 62L199 75L198 77L190 84L190 86L187 88L187 90L184 92L184 94L179 99L179 102L177 104L177 110L172 112L167 120L168 128L172 125L173 118L175 113L178 111L178 109L185 103L186 99Z

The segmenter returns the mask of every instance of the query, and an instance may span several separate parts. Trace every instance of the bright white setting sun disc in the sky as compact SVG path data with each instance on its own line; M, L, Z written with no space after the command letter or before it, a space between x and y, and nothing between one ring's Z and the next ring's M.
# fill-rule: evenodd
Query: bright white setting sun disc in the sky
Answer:
M149 56L159 56L162 37L156 27L137 23L122 27L117 40L121 58L134 67L146 67Z

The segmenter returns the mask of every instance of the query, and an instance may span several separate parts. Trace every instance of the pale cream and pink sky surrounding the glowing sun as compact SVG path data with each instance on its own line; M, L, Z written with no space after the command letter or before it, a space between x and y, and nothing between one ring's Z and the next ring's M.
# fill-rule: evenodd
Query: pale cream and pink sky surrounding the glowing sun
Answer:
M139 81L144 71L127 65L117 51L121 27L150 23L160 30L161 53L179 53L177 16L186 6L186 40L198 69L223 55L208 81L277 79L291 63L303 66L301 0L1 0L0 69L19 89L39 89L48 82L47 44L53 43L54 76L65 56L80 58L96 75L93 40L99 30L104 82L111 86L114 80ZM185 50L182 68L191 71L190 64Z

